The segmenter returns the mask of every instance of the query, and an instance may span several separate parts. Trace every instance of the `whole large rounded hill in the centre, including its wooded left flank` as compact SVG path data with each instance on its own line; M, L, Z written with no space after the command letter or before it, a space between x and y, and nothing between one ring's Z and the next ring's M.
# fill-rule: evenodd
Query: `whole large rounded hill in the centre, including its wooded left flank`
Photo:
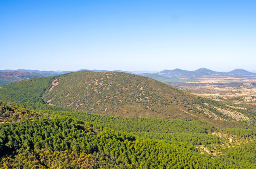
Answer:
M21 81L1 87L0 100L46 103L120 117L200 119L215 126L226 120L248 121L256 114L254 109L233 109L151 78L122 72L80 71Z

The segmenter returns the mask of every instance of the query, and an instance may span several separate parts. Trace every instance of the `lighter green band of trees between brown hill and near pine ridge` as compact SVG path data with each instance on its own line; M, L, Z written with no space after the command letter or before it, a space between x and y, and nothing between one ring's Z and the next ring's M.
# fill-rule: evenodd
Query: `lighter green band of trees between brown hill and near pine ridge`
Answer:
M16 103L34 111L60 114L74 119L87 121L96 125L102 125L125 132L153 132L153 133L210 133L216 129L203 121L191 119L156 119L156 118L131 118L112 117L72 111L63 107L57 107L39 103Z

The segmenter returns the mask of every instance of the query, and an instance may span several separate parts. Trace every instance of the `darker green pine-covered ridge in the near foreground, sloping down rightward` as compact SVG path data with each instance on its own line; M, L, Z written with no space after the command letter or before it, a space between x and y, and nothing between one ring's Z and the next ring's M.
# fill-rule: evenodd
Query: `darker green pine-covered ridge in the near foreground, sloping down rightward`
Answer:
M77 153L76 157L88 154L97 168L238 168L177 145L136 138L67 117L0 124L1 167L6 161L20 167L36 163L45 168L50 168L49 163L70 161L62 167L75 168L72 153ZM23 161L17 163L17 157ZM50 161L45 157L51 157Z

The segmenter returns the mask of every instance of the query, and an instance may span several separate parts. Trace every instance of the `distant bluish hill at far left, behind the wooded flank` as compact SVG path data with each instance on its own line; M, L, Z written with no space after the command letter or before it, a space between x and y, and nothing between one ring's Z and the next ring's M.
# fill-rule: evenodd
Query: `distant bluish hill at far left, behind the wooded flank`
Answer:
M0 72L0 85L6 85L21 80L41 78L46 76L48 75L29 72Z

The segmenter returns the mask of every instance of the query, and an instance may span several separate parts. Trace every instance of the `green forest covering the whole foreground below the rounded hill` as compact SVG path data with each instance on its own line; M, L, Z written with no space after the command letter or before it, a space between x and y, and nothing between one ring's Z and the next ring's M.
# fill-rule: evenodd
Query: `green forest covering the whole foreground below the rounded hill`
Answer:
M200 120L78 115L74 114L78 111L40 103L0 102L0 108L3 168L256 167L252 156L256 133L250 126L216 129ZM12 113L7 117L6 111ZM228 147L228 138L214 132L248 143L237 139L236 147ZM214 155L216 147L218 155Z

